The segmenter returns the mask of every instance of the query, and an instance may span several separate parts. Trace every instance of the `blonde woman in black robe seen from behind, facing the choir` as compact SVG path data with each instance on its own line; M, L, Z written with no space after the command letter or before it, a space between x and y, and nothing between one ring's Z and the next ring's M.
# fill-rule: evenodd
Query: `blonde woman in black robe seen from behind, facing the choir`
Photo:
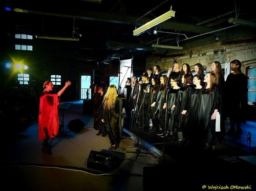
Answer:
M102 122L110 139L109 150L119 147L123 129L123 107L125 98L117 94L115 85L110 85L102 102Z

